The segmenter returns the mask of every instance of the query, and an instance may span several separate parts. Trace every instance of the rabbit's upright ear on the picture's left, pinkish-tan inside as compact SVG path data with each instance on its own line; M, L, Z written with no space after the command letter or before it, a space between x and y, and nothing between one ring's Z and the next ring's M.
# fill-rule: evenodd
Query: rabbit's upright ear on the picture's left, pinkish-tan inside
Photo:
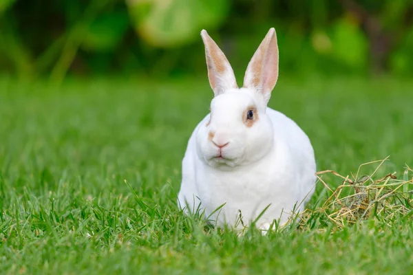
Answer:
M215 96L224 93L227 89L237 89L233 69L224 53L206 30L202 30L201 36L205 45L205 56L207 56L209 84Z

